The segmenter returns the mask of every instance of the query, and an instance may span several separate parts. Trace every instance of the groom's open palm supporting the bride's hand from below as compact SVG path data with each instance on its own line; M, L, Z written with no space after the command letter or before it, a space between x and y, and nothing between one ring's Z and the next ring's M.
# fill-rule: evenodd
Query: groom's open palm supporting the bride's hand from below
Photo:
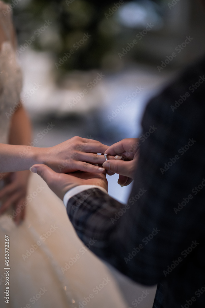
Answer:
M71 188L79 185L97 185L108 190L106 174L74 172L71 174L57 173L46 165L36 164L30 168L30 171L37 173L47 183L49 188L61 200Z

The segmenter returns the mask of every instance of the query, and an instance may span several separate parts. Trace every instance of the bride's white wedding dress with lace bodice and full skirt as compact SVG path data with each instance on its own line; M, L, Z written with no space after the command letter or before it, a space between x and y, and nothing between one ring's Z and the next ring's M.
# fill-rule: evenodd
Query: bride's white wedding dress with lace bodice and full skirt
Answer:
M11 17L3 10L0 1L0 25L8 37L0 51L0 143L7 143L11 117L6 113L19 102L22 73L10 41ZM36 174L30 177L28 196L19 227L12 209L0 217L0 307L127 307L110 271L78 239L63 202ZM9 304L4 298L5 235L10 238Z

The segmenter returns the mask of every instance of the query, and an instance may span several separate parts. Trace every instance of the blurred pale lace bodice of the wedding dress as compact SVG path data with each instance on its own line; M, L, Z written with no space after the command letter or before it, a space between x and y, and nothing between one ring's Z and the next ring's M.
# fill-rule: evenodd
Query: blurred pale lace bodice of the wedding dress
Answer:
M11 42L13 24L10 6L0 1L0 26L6 41L0 46L0 143L8 143L11 117L18 109L22 89L22 71Z

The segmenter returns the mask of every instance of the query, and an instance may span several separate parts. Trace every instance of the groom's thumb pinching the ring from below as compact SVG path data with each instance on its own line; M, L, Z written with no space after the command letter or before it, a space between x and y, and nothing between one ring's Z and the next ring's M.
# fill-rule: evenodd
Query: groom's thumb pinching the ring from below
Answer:
M120 175L132 177L133 160L124 161L124 160L110 159L104 162L103 168Z

